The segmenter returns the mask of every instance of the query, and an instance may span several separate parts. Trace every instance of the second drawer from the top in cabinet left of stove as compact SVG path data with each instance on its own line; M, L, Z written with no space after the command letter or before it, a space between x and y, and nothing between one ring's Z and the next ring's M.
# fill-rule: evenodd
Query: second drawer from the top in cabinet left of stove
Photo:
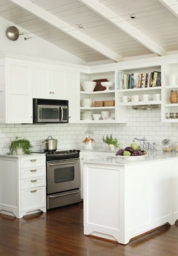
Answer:
M21 172L20 174L21 179L46 176L45 167L37 167L37 168L31 167L27 169L21 169L20 172Z

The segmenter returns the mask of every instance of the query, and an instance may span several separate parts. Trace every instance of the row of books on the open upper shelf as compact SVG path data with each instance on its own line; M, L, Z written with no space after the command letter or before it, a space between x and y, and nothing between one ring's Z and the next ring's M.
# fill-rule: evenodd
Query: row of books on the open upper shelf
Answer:
M117 89L134 89L161 86L161 72L151 73L117 73Z

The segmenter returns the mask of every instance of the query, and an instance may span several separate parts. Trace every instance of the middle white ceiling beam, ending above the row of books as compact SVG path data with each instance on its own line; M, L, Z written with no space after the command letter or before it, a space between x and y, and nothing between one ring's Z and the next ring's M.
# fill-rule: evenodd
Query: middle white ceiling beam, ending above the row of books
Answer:
M79 0L81 3L88 6L94 12L100 14L103 18L110 21L117 28L121 29L123 32L137 40L140 44L151 50L152 52L163 56L167 52L161 46L156 44L148 36L143 34L140 30L129 24L127 21L123 20L121 16L117 15L115 12L110 10L107 6L99 2L98 0Z

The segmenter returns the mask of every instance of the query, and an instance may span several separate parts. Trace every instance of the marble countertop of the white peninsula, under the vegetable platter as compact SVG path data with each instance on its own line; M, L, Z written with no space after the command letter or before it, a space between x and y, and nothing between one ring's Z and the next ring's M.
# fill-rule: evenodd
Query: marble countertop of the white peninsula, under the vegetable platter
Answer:
M147 156L142 159L135 159L131 157L129 160L125 160L118 156L99 158L99 159L91 159L85 160L84 163L92 163L92 164L110 164L110 165L133 165L133 164L143 164L147 162L159 161L170 158L178 158L177 152L162 152L161 150L150 151L147 152Z

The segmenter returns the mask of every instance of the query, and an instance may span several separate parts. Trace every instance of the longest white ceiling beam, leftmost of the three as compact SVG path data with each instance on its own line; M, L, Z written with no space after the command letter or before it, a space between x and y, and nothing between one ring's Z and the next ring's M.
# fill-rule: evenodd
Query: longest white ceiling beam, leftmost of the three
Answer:
M74 28L73 26L70 26L70 24L68 24L67 22L64 22L63 20L57 18L55 15L51 14L50 12L47 12L43 8L34 4L33 2L29 0L10 1L27 10L28 12L31 12L32 14L44 20L45 22L51 24L55 28L58 28L59 30L65 32L66 34L70 35L76 40L82 42L83 44L89 46L93 50L100 52L100 54L106 56L107 58L110 58L116 62L123 60L123 58L119 54L113 52L110 48L104 46L103 44L94 40L90 36L87 36L86 34L82 33L80 30Z

